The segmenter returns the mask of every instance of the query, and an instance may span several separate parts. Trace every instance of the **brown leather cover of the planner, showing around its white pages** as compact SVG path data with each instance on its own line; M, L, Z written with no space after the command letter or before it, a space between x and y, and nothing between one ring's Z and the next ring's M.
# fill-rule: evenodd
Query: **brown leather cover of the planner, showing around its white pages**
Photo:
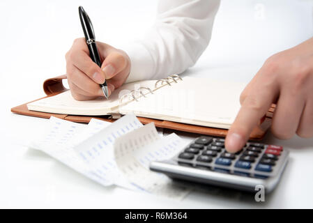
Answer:
M66 75L62 75L59 77L54 77L51 79L45 80L43 84L43 90L47 94L45 98L57 95L63 91L68 91L63 86L62 80L66 79ZM42 98L39 98L40 100ZM35 101L35 100L34 100ZM89 123L91 118L98 118L100 120L104 121L109 121L109 122L114 122L114 119L109 118L109 116L73 116L73 115L67 115L67 114L52 114L52 113L46 113L46 112L35 112L35 111L29 111L27 109L27 102L24 105L19 105L17 107L13 107L11 109L11 112L15 114L22 114L26 116L35 116L35 117L40 117L40 118L50 118L51 116L55 116L57 118L62 118L68 121L74 121L77 123ZM275 110L275 105L273 105L269 110L268 113L266 114L264 121L257 126L257 128L254 128L252 134L250 135L250 139L252 140L259 140L264 137L266 134L266 130L270 127L271 123L271 118L273 117L273 112ZM172 121L163 121L163 120L158 120L158 119L152 119L152 118L142 118L142 117L137 117L140 122L143 124L146 123L155 123L155 126L158 128L165 128L169 130L178 130L181 132L192 132L196 134L206 134L206 135L212 135L216 137L225 137L227 134L228 130L220 129L220 128L209 128L205 126L200 126L200 125L189 125L189 124L184 124L184 123L176 123Z

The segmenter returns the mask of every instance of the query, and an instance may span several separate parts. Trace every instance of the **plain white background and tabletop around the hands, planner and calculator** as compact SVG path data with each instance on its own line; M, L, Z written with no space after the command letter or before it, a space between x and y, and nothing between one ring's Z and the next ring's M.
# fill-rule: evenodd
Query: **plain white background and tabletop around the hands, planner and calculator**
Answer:
M42 84L63 75L64 55L82 37L78 6L89 13L99 41L115 47L152 26L157 1L0 1L0 208L312 208L313 139L267 143L290 148L282 182L265 203L225 190L198 190L183 201L147 196L91 182L24 144L46 121L10 108L44 96ZM248 82L264 60L313 36L310 0L222 0L211 44L194 77Z

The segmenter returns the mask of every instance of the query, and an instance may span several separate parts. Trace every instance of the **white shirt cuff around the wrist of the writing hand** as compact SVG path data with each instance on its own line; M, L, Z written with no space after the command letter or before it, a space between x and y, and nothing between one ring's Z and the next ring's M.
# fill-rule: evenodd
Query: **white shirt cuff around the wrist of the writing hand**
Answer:
M151 54L140 43L131 43L121 48L130 57L130 75L126 83L151 79L155 70Z

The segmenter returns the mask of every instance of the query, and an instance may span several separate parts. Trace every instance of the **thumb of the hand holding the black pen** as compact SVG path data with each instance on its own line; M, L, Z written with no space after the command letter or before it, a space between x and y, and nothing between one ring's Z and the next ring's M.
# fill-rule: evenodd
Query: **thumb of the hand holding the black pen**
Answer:
M119 74L127 66L127 59L121 52L114 51L107 55L103 61L101 69L105 72L105 78L111 79Z

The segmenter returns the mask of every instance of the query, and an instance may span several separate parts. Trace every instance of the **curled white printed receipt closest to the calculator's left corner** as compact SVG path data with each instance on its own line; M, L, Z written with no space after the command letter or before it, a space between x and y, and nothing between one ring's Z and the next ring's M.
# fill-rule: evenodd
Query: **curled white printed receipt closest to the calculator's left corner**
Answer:
M174 133L161 139L154 123L149 123L116 139L114 158L124 178L142 190L183 198L190 190L172 185L167 176L149 170L151 161L170 159L183 146L186 146L183 140Z

